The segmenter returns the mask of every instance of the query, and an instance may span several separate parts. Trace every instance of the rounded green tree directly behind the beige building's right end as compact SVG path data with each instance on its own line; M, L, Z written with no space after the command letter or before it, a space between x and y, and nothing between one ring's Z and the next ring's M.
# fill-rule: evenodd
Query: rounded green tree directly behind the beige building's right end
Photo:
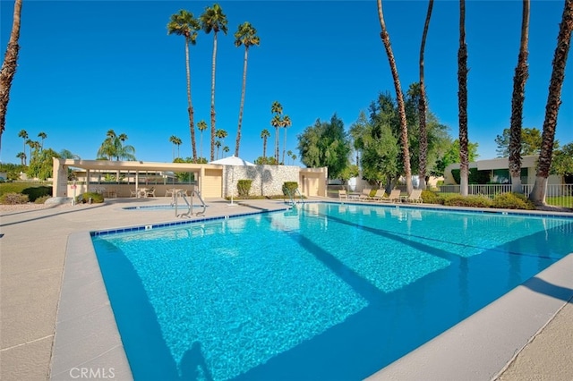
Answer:
M340 178L349 165L350 140L337 114L332 115L329 123L318 119L298 135L298 149L304 165L327 166L330 179Z

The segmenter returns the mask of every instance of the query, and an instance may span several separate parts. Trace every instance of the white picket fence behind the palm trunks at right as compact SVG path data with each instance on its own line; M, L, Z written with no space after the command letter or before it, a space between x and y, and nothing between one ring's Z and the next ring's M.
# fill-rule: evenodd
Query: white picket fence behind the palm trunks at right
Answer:
M459 193L459 185L440 185L440 193ZM528 195L534 189L533 184L524 184L523 190ZM511 184L470 184L467 194L483 195L490 199L500 193L511 191ZM545 202L559 207L573 207L573 184L548 184Z

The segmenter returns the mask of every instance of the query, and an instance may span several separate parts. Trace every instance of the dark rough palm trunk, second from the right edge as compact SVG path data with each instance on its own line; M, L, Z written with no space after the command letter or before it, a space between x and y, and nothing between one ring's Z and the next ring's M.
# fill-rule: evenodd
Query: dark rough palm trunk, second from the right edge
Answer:
M513 77L513 95L511 97L511 124L509 126L509 174L511 190L523 193L521 186L521 123L523 119L523 102L526 97L527 42L529 36L529 0L523 0L521 16L521 42L517 56L516 73Z

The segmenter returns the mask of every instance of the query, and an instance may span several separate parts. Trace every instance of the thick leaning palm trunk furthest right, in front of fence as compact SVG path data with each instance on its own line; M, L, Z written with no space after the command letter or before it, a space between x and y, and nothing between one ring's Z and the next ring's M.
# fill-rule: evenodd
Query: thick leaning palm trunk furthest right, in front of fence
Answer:
M557 47L553 55L552 79L549 84L549 96L545 106L545 119L543 121L543 134L541 152L537 173L535 174L534 189L531 190L529 199L536 205L545 203L545 190L547 189L547 178L552 165L553 143L555 140L555 127L557 126L557 114L561 105L561 89L565 79L565 65L569 55L571 43L571 31L573 30L573 0L565 0L563 17L557 36Z

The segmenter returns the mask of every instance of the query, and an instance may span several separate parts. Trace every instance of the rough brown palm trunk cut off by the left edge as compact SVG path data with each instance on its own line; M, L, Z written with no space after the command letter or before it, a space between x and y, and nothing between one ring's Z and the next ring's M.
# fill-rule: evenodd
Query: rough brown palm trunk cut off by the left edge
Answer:
M8 47L4 55L4 63L2 63L2 70L0 70L0 148L2 148L2 133L6 123L6 112L8 110L8 101L10 100L10 88L12 87L12 80L18 67L18 52L20 46L18 39L20 38L20 14L21 14L21 0L15 0L14 13L12 22L12 32L8 40ZM24 152L25 153L25 152Z

